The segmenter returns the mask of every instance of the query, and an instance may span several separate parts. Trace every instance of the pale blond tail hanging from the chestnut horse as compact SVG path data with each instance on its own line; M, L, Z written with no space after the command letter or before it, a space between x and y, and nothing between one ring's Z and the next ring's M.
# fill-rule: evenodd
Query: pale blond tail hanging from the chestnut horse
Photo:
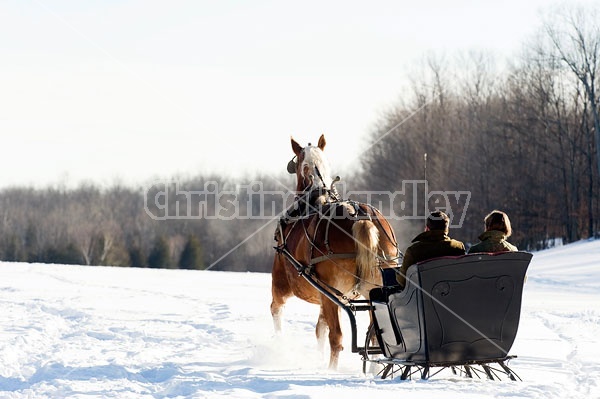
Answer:
M352 226L352 236L356 243L358 285L365 282L377 281L377 248L379 246L379 231L370 220L359 220Z

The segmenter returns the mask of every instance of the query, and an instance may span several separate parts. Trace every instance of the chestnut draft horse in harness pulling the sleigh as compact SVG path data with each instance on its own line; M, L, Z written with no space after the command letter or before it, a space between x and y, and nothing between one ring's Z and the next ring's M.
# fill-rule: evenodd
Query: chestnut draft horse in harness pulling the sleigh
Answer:
M323 152L324 135L316 146L309 143L303 148L293 137L291 144L295 155L288 172L296 175L296 200L275 233L278 250L271 273L271 315L279 333L282 309L290 297L319 305L317 341L324 349L328 336L329 368L336 369L343 350L340 308L309 284L284 252L306 268L303 273L345 303L361 295L368 298L372 288L380 287L379 269L397 266L400 252L394 230L379 210L339 198L334 187L339 177L331 177Z

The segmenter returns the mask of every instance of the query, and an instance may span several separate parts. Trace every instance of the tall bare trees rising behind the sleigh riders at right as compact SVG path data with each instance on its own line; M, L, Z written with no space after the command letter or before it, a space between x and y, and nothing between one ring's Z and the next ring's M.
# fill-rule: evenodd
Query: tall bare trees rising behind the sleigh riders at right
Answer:
M504 68L483 52L427 57L370 136L365 186L423 178L427 154L430 190L471 193L459 239L476 240L496 208L525 250L598 236L600 20L552 11Z

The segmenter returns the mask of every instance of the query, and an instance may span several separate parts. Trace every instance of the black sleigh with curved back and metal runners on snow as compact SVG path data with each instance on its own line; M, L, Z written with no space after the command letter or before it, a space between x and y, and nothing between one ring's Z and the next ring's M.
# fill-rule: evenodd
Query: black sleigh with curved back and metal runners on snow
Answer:
M402 291L373 289L365 365L383 365L382 378L426 379L448 368L467 377L520 379L507 363L516 357L508 353L531 258L526 252L437 258L411 266ZM395 282L395 272L384 269L384 281Z

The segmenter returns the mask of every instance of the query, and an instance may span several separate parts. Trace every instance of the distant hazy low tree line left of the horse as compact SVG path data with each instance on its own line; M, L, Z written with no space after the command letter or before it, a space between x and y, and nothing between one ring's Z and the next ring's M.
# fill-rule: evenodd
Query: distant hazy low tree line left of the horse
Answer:
M287 176L285 176L288 178ZM283 177L282 177L283 179ZM257 177L266 191L289 191L271 177ZM289 179L289 178L288 178ZM215 217L186 213L182 193L219 192L198 206L217 209ZM0 259L82 265L214 270L270 270L277 214L285 205L273 199L272 211L250 201L228 177L197 176L162 184L162 197L152 184L137 188L5 188L0 190ZM157 200L158 198L158 200ZM221 201L221 204L215 204ZM157 204L163 214L155 213ZM244 213L234 214L242 204ZM166 210L164 209L166 207ZM168 218L161 216L167 215ZM158 216L158 217L157 217ZM176 216L176 217L175 217ZM234 216L234 217L231 217ZM261 216L259 218L259 216Z

